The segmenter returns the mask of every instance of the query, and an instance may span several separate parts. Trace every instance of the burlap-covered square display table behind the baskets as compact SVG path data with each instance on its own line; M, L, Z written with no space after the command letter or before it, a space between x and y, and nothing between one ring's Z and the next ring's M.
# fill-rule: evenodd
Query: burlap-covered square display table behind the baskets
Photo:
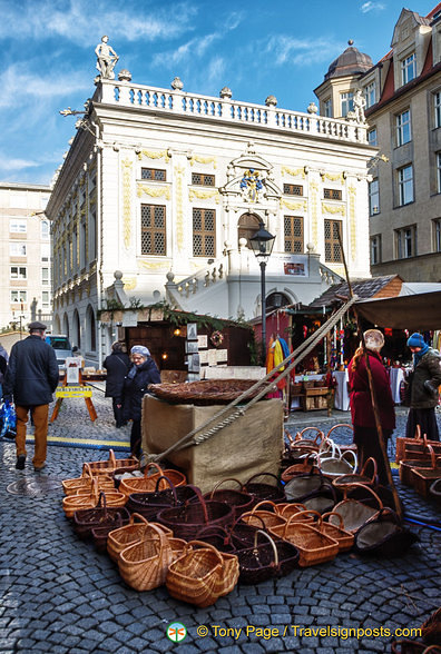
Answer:
M143 450L155 454L165 452L223 408L225 405L173 405L145 395ZM277 475L284 449L283 417L281 399L257 402L243 416L200 445L174 452L167 459L182 468L188 482L199 486L203 493L212 490L217 482L228 477L245 483L262 472ZM222 419L225 418L226 415ZM212 423L209 427L214 425ZM265 482L265 478L262 480ZM234 483L231 485L236 486Z

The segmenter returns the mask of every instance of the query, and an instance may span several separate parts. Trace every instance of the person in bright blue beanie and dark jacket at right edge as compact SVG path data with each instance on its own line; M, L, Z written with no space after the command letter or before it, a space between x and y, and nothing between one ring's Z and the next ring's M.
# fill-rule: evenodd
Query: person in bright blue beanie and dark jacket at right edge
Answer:
M409 337L408 347L413 354L413 374L410 380L410 409L405 435L413 438L419 425L421 434L425 434L429 440L439 440L434 409L439 402L441 385L441 356L438 350L429 347L423 335L418 331Z

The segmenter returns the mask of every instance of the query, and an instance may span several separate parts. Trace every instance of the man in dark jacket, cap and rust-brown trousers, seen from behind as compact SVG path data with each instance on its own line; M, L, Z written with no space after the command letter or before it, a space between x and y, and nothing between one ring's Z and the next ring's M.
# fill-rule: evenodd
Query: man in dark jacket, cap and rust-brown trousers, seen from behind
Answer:
M45 343L47 327L42 323L29 325L29 336L12 346L4 379L3 397L16 404L17 464L22 470L26 463L26 425L29 410L35 425L33 469L46 466L49 403L58 384L58 364L50 345Z

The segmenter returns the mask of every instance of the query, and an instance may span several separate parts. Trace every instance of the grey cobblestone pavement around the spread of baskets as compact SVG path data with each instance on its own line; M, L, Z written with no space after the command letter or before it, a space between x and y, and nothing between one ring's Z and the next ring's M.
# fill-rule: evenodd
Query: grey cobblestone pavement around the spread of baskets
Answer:
M95 424L81 400L65 402L50 435L127 445L129 429L112 426L110 400L97 392L94 402ZM341 412L331 418L321 412L297 413L290 416L287 428L295 433L316 425L327 432L347 419ZM395 434L403 430L403 409L398 423ZM281 579L238 586L204 610L170 598L165 588L137 593L121 582L107 555L75 536L61 508L60 480L78 476L84 460L104 458L105 453L50 445L46 474L37 475L30 463L32 449L29 444L27 467L18 472L13 444L0 443L0 652L389 652L392 637L384 632L374 637L370 630L383 627L393 634L395 628L419 627L441 604L440 532L415 525L411 528L421 542L400 558L341 554ZM7 492L13 482L37 478L27 496ZM408 512L440 521L434 504L398 487ZM175 621L187 628L178 645L166 636L167 625ZM203 625L205 637L196 631ZM320 627L325 631L317 633ZM349 627L360 630L359 637L345 632Z

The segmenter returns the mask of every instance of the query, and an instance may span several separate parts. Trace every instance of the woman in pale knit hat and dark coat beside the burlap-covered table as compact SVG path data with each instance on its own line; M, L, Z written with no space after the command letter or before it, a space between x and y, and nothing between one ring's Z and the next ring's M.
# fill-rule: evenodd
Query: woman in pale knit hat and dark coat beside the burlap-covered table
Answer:
M130 350L133 365L124 384L124 417L133 420L130 434L131 456L139 458L141 450L143 397L149 384L160 384L159 370L144 345L134 345Z

